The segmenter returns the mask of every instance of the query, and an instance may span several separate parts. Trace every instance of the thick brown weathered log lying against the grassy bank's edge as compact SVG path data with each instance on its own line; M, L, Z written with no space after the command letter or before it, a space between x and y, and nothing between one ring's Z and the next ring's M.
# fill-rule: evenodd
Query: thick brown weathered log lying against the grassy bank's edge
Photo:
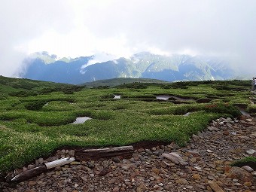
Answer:
M117 148L98 148L98 149L85 149L81 151L76 151L76 160L99 160L101 158L109 157L132 157L133 156L133 146L123 146Z

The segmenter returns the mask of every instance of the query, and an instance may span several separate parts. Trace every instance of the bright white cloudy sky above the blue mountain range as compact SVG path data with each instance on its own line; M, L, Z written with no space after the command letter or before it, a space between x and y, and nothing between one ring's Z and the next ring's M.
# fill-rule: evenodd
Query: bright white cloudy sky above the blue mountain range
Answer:
M30 53L219 56L256 76L254 0L1 0L0 75ZM93 63L90 63L93 64Z

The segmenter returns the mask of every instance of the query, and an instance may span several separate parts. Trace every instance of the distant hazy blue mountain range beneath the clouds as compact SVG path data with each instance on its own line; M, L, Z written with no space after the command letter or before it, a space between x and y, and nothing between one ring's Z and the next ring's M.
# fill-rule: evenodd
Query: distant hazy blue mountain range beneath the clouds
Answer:
M94 56L57 59L47 52L24 61L20 78L82 84L110 78L154 78L163 81L230 80L237 72L222 59L209 56L162 56L148 52L88 65Z

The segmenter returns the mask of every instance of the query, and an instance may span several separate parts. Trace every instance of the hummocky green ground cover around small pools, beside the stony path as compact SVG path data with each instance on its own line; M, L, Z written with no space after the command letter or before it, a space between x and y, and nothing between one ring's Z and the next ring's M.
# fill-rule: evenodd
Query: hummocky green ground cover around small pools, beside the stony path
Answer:
M238 116L233 105L250 103L252 95L243 81L227 81L226 90L216 89L215 84L127 84L107 89L74 89L73 93L57 90L36 96L6 96L0 100L0 171L21 167L62 146L117 146L142 141L185 145L192 134L206 128L211 120ZM114 95L121 98L114 99ZM177 105L171 100L156 99L158 95L194 101ZM212 96L210 102L197 102L208 96ZM184 116L187 112L190 115ZM70 124L76 117L85 116L92 119Z

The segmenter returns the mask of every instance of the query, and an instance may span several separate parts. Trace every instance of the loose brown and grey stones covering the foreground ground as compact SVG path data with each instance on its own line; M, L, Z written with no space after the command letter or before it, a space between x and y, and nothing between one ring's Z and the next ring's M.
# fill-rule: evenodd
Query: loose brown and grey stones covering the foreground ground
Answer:
M57 151L54 157L74 155ZM218 119L192 136L185 148L175 143L138 148L130 159L74 161L19 184L2 182L2 191L256 191L255 167L232 167L233 160L256 156L256 120ZM47 162L16 170L15 174ZM252 169L254 168L254 169ZM0 188L1 190L1 188Z

